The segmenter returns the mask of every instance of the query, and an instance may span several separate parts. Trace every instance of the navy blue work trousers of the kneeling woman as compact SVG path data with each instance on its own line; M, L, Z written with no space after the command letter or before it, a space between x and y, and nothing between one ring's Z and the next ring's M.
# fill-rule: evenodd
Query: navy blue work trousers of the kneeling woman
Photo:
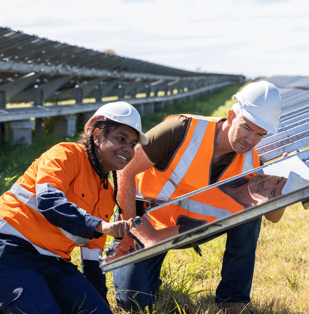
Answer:
M112 314L80 271L72 273L61 266L53 267L54 278L32 269L0 264L0 309L6 314Z

